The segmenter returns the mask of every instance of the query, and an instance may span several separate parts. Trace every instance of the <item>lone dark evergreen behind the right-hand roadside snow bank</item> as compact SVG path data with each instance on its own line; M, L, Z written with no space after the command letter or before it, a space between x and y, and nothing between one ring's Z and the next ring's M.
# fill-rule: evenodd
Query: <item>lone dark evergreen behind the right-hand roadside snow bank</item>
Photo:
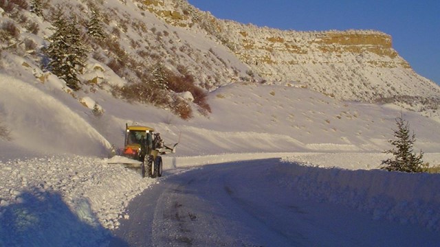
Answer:
M423 172L423 152L419 155L413 153L415 134L410 135L410 126L402 117L396 118L397 130L394 130L394 140L388 140L395 149L384 153L393 154L394 159L388 158L382 161L382 169L399 172Z

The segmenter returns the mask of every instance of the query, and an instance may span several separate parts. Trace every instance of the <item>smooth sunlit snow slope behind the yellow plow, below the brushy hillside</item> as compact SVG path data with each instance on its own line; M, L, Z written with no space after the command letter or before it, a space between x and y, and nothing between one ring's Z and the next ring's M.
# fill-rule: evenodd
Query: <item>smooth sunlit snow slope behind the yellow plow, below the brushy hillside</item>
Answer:
M1 124L12 139L2 141L8 150L3 157L12 156L17 147L41 154L107 156L111 145L122 145L125 124L134 122L153 126L168 143L181 136L179 155L382 152L389 148L387 140L400 114L417 134L417 149L438 152L440 146L437 121L392 105L340 102L291 86L223 86L208 97L208 117L184 121L167 110L115 99L105 90L74 99L56 86L56 78L45 84L1 78ZM94 115L93 104L85 107L90 101L100 102L104 113Z

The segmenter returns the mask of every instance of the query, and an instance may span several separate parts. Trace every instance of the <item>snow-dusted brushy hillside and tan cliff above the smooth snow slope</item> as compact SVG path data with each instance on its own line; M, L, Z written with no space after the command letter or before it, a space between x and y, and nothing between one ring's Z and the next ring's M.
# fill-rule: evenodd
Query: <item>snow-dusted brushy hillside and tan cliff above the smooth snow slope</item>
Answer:
M379 31L274 30L215 19L186 0L53 0L45 3L43 17L18 2L11 3L12 10L4 5L1 17L3 56L24 57L12 67L5 65L12 76L18 73L14 68L27 66L43 80L39 68L47 60L41 49L54 32L51 13L63 6L69 8L65 18L76 16L83 32L92 10L97 10L107 34L102 43L84 40L91 51L89 69L79 75L85 88L90 82L100 86L140 82L144 73L164 64L173 73L192 76L208 91L232 82L281 82L336 99L395 102L439 116L440 87L412 71L393 49L392 37Z

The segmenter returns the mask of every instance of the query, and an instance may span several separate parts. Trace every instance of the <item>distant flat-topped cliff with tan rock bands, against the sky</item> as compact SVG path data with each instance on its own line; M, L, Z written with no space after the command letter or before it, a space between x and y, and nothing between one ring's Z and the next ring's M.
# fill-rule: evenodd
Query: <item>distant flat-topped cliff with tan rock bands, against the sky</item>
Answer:
M289 82L338 99L366 102L396 95L440 95L439 86L415 73L393 49L391 36L382 32L282 31L218 20L185 0L155 1L162 7L150 3L150 10L159 18L194 32L204 30L267 82ZM166 8L173 10L164 14Z

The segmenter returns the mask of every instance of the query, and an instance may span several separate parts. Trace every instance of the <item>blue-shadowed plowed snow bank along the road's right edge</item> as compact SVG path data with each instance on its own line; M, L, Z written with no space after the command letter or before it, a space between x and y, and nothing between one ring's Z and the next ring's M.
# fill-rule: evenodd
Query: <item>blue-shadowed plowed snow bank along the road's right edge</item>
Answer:
M285 157L274 167L279 185L304 198L366 211L375 220L419 224L440 231L440 174L407 174L380 169L348 170L298 163Z

